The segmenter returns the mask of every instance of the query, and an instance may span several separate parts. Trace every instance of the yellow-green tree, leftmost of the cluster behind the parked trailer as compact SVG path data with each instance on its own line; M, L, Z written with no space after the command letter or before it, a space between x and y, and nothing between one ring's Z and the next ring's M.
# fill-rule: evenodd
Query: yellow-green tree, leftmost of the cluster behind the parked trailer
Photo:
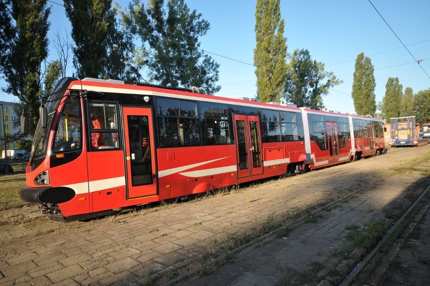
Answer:
M399 83L398 77L389 77L385 89L385 96L382 99L383 113L385 122L390 122L390 118L400 117L401 115L403 86Z

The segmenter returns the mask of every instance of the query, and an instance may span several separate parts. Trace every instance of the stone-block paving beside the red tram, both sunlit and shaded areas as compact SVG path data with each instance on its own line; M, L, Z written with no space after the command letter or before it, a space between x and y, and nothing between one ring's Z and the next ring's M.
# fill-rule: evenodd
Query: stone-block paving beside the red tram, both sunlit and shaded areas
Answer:
M349 257L340 252L347 242L341 237L352 231L346 228L382 216L388 206L405 200L405 187L423 179L418 173L393 176L390 168L429 151L430 146L390 149L382 156L304 175L87 222L50 222L36 207L2 211L0 284L165 284L205 267L201 257L268 217L378 182L316 222L235 254L237 262L212 275L178 283L289 284L295 283L291 279L296 274L311 276L304 272L309 263L327 265L315 275L325 277L328 266L348 266Z

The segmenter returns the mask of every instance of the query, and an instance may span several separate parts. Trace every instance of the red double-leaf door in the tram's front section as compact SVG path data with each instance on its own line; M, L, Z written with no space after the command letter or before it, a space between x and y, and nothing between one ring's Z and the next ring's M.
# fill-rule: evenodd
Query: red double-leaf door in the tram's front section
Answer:
M261 135L258 116L235 114L234 122L237 177L244 178L262 174Z

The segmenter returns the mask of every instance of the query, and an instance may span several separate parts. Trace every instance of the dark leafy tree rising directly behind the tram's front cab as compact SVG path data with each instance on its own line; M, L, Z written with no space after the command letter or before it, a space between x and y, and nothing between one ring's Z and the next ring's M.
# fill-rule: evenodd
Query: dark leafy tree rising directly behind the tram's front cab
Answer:
M135 80L134 43L117 19L112 0L64 0L72 24L73 64L77 76Z

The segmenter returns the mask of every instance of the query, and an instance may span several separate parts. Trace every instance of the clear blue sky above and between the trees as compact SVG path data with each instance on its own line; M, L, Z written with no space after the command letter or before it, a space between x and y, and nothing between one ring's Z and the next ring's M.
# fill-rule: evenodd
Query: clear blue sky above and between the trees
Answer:
M125 7L130 1L117 2ZM58 29L71 31L64 8L56 3L63 2L48 2L52 6L50 39ZM254 98L256 1L185 0L185 3L210 23L210 29L200 38L200 47L220 64L217 84L222 88L216 95ZM347 113L355 113L351 89L359 53L369 57L374 67L377 104L385 95L389 77L398 77L403 91L406 87L411 87L414 93L430 88L428 11L428 0L281 0L287 52L307 49L313 60L324 63L326 71L343 80L330 89L323 101L329 110ZM55 56L52 46L51 51L50 57ZM73 70L69 73L71 76ZM0 86L4 84L0 80ZM1 91L0 100L17 101Z

